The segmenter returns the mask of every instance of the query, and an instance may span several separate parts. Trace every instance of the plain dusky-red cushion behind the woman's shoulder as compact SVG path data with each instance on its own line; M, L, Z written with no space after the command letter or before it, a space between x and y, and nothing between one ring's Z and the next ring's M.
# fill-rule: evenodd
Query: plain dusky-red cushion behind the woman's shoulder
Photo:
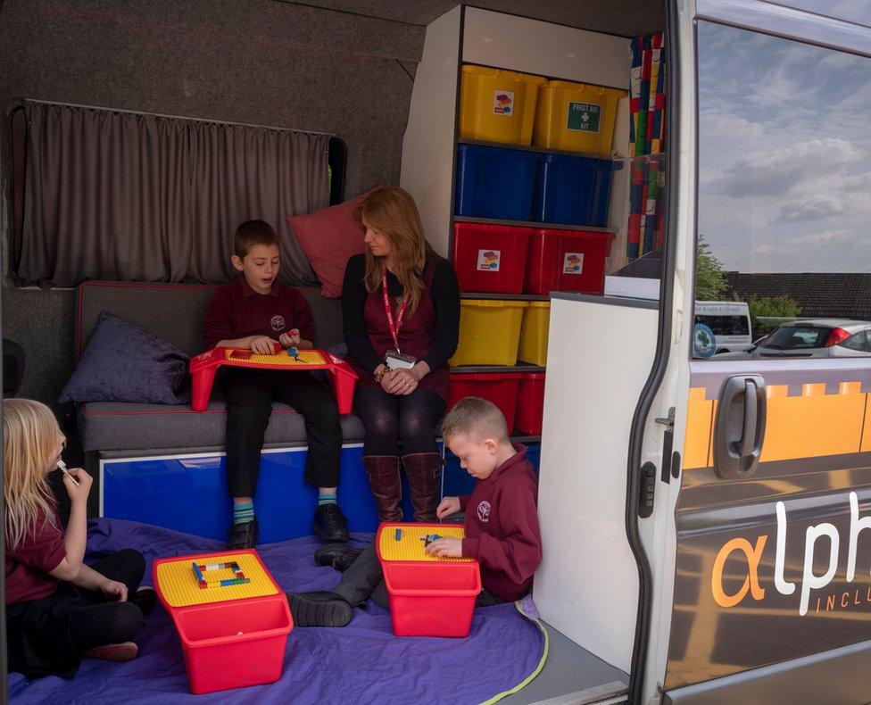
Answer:
M345 265L364 250L363 229L353 220L353 210L376 188L323 211L287 216L311 269L318 275L320 293L328 299L342 295Z

